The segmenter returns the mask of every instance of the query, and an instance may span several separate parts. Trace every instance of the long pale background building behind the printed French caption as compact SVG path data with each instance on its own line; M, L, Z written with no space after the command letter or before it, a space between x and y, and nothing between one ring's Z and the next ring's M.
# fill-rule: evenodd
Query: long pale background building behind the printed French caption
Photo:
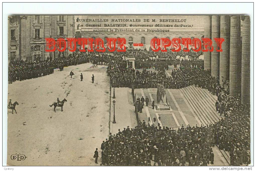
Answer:
M152 21L152 17L156 20L155 22L149 22L149 24L143 22L144 19ZM177 22L159 22L172 18L179 18L180 21L185 18L189 22L186 22L186 24L193 25L193 27L166 27L166 25L175 25ZM138 19L140 19L140 22L135 21ZM120 37L126 39L126 47L132 47L133 43L143 43L144 46L134 47L143 49L150 48L150 41L154 37L170 39L174 37L196 37L201 39L204 36L203 19L203 16L74 16L76 37L94 39L99 37L104 40L105 45L106 37ZM186 25L185 22L180 22L180 24ZM147 27L147 25L151 27ZM110 31L108 26L112 26L113 31ZM132 29L133 31L129 31ZM139 31L136 32L136 29ZM144 31L141 31L142 29ZM163 32L161 29L168 29L169 32Z

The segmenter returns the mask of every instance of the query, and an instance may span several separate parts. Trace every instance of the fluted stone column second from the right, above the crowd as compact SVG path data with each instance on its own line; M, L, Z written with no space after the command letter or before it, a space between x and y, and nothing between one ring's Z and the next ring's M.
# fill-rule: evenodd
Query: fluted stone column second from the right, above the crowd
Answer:
M240 16L230 17L229 94L241 93L241 24Z

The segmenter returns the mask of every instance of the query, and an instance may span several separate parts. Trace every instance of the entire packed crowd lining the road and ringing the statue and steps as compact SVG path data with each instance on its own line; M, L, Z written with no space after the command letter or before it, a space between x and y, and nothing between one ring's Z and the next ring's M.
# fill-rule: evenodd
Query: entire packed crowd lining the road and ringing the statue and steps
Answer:
M185 52L180 52L185 53ZM188 52L186 52L188 53ZM135 56L138 68L127 68L125 58ZM177 54L176 54L177 55ZM180 56L184 54L180 54ZM190 54L191 55L191 54ZM156 57L158 56L158 57ZM198 54L194 55L198 56ZM177 57L177 56L176 56ZM157 61L161 58L166 61ZM192 58L193 59L193 58ZM218 78L203 69L203 60L179 60L175 54L146 50L128 50L121 53L78 53L53 60L37 59L34 62L13 60L9 63L8 81L26 80L52 74L55 68L81 63L107 65L113 87L155 88L157 84L165 88L183 88L189 85L208 89L218 96L218 109L225 119L207 127L190 127L178 130L147 125L145 121L135 129L124 128L102 143L102 164L104 165L170 165L205 166L214 163L211 147L230 152L231 165L250 163L250 109L241 104L240 96L229 95L228 82L220 85ZM169 62L169 63L168 63ZM165 70L174 65L171 76ZM176 67L175 67L176 66ZM155 71L147 71L154 68Z

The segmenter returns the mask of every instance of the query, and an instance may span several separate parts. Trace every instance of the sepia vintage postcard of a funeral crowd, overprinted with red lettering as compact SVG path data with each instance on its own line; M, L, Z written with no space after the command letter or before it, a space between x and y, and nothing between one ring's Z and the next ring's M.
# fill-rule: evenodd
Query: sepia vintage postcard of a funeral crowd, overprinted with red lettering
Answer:
M250 165L251 22L9 15L7 165Z

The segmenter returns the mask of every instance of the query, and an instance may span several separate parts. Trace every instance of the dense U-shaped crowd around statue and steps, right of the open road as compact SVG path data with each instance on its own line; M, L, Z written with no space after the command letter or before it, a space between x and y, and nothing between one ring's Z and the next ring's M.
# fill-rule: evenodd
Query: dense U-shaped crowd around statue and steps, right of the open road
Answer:
M103 164L204 166L214 162L211 150L214 144L230 152L231 165L250 164L249 105L242 105L239 95L231 97L228 81L220 85L209 70L203 70L199 64L201 61L186 62L180 69L174 69L171 76L166 76L165 67L158 71L143 69L139 72L125 68L126 63L119 59L110 62L108 73L112 86L117 87L148 88L163 84L165 88L194 85L208 89L218 96L219 112L225 119L207 127L188 126L178 131L157 129L146 126L145 122L135 129L124 129L102 143ZM184 135L188 139L184 139Z

